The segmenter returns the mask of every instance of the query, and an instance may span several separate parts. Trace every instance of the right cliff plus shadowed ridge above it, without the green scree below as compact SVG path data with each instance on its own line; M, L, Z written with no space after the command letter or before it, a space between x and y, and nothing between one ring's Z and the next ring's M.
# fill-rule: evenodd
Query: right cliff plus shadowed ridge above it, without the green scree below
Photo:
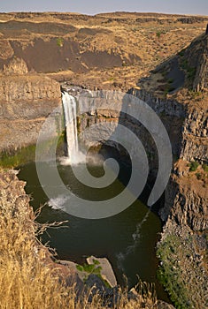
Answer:
M173 175L166 188L165 206L159 211L162 220L166 222L170 217L180 225L188 225L191 230L205 230L208 227L207 175L202 168L191 173L187 166L189 162L198 162L201 166L206 166L208 162L207 35L197 37L176 57L179 69L185 74L181 88L169 95L158 91L161 76L173 76L177 79L171 65L173 59L176 59L173 57L159 65L149 79L141 80L139 85L143 90L132 89L131 93L148 102L161 117L171 140L173 155L176 155L175 161L180 159L174 166ZM157 75L159 72L161 75ZM165 82L164 80L163 78L162 82ZM151 82L154 87L150 87ZM172 80L170 83L173 85ZM171 117L169 123L168 117Z

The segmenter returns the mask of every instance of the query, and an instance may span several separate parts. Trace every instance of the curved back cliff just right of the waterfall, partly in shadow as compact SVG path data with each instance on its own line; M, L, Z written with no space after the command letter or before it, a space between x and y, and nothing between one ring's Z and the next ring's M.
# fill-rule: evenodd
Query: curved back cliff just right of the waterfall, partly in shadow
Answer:
M139 121L135 120L136 117L140 117L139 109L136 109L137 115L135 115L135 118L130 117L129 115L124 115L119 111L113 110L113 104L115 103L116 95L120 96L120 102L122 102L123 98L127 97L127 95L123 94L124 96L122 97L122 94L120 93L114 94L112 92L111 94L112 98L114 95L114 101L110 100L109 102L107 102L109 109L102 109L101 106L101 109L96 109L81 115L78 121L79 132L81 132L81 139L87 141L88 146L91 146L91 144L93 145L96 142L97 144L100 143L107 146L115 147L122 155L122 158L127 159L127 152L124 150L124 148L119 147L119 144L115 144L111 140L112 133L116 133L116 128L118 124L121 124L122 126L129 129L131 132L134 132L138 139L142 141L143 147L145 147L149 159L149 178L153 177L155 179L158 170L157 149L154 140L150 136L150 132L148 132L147 128L145 128ZM171 144L173 147L173 155L180 156L182 140L181 124L183 123L184 117L186 115L186 110L184 106L176 101L167 102L166 100L153 98L152 95L135 89L131 89L131 91L129 91L129 94L134 94L156 111L158 116L161 118L163 124L165 125L166 131L169 133ZM108 95L110 95L109 92ZM116 106L117 108L119 106L119 108L121 109L122 103L120 102L117 102ZM81 102L79 102L79 109L81 109L80 105ZM112 109L110 105L112 105ZM96 124L96 126L93 126L93 124ZM151 125L154 126L156 124L152 123ZM157 128L155 130L157 130ZM130 137L129 139L127 137L128 135L126 135L125 139L130 140ZM138 149L135 145L131 145L131 151L132 154L134 154L136 157L138 154Z

